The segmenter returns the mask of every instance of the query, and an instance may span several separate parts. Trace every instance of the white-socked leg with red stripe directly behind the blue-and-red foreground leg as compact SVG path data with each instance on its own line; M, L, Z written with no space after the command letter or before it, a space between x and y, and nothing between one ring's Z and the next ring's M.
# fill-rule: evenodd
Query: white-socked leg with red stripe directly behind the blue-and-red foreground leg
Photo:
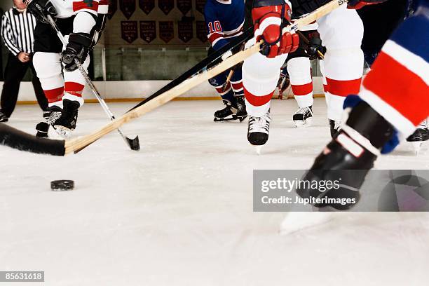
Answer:
M320 39L327 48L324 74L327 81L327 116L338 128L347 95L359 92L364 56L360 48L363 24L356 11L340 7L318 20ZM334 134L336 130L332 130Z

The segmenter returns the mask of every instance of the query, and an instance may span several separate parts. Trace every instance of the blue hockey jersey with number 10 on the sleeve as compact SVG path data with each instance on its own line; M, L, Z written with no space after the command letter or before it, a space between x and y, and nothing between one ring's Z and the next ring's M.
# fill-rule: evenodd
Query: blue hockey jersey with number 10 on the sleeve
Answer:
M204 17L207 38L214 50L219 50L229 42L229 39L243 34L244 0L207 0Z

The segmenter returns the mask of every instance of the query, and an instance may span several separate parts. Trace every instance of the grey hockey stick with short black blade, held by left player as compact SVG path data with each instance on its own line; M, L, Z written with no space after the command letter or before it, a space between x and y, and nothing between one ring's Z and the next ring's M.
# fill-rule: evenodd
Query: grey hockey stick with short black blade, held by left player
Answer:
M53 27L53 29L55 29L55 32L57 32L57 36L60 39L60 41L64 44L64 46L67 46L67 41L66 41L66 39L64 39L64 36L60 32L60 29L58 29L53 18L50 15L47 15L47 19L48 19L50 25ZM91 90L93 91L93 94L97 98L98 102L100 102L104 112L107 114L107 116L109 116L111 121L114 121L116 119L114 114L110 111L109 106L106 104L104 99L101 97L101 95L98 92L97 88L95 87L93 81L91 81L88 74L86 73L85 68L82 67L81 62L79 62L79 60L75 58L74 63L79 68L79 71L81 71L81 74L82 74L83 78L85 79L86 84L88 84L88 86L91 88ZM128 144L128 147L130 147L131 150L139 151L140 144L139 144L139 137L138 136L131 139L131 138L125 136L120 128L118 128L118 132L121 135L121 137L125 140L125 142Z

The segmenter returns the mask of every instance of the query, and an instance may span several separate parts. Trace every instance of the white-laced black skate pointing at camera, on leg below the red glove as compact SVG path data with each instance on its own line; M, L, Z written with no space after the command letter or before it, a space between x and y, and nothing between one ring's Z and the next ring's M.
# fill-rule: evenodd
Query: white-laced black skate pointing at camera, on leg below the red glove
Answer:
M268 141L270 131L270 111L261 117L249 116L249 125L247 128L247 140L250 144L257 147L257 153L260 154L261 146Z

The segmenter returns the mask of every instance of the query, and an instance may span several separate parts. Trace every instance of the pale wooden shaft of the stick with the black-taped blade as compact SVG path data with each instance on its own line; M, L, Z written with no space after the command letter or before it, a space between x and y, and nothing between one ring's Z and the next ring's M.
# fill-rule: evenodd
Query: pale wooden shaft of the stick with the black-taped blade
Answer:
M334 11L334 9L338 8L339 6L343 4L347 4L347 2L348 1L346 0L330 1L324 6L321 6L317 10L313 11L313 13L305 15L303 18L297 19L294 22L294 24L290 25L290 28L297 30L300 27L303 27L304 25L308 25L311 22L314 22L315 20L318 20L323 16L327 15L331 11ZM111 123L107 124L100 130L93 132L93 134L66 141L64 144L65 154L71 154L73 152L76 152L85 148L89 144L95 142L95 140L100 139L104 135L107 135L109 132L112 132L113 130L117 129L121 125L128 123L129 121L132 121L133 119L138 118L143 114L147 114L149 111L152 111L157 107L160 107L161 105L169 102L173 98L178 97L183 93L186 93L186 91L191 90L191 88L195 88L200 83L203 83L204 81L211 79L213 76L216 76L217 74L220 74L223 71L226 71L226 69L233 67L239 62L243 62L243 60L245 60L247 57L250 57L255 53L259 53L260 47L261 47L261 43L255 43L250 48L247 48L239 53L236 53L235 55L232 55L231 57L228 57L226 60L224 60L217 66L213 67L212 69L207 69L207 71L203 72L202 74L193 76L191 79L188 79L183 83L179 84L178 86L175 86L175 88L167 90L165 93L162 93L161 95L154 98L153 100L150 100L143 106L137 107L136 109L129 111L128 113L124 114L120 118L117 118Z

